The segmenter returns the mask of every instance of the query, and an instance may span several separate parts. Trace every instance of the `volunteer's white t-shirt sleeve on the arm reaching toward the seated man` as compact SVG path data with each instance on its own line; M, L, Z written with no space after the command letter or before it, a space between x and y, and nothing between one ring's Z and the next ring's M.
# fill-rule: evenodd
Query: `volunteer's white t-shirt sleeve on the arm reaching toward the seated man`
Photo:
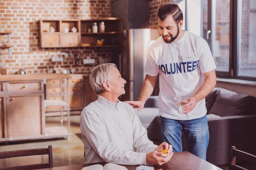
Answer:
M148 57L145 65L145 74L148 74L149 76L157 76L159 73L159 69L156 65L155 58L155 52L151 45L151 47L148 50Z

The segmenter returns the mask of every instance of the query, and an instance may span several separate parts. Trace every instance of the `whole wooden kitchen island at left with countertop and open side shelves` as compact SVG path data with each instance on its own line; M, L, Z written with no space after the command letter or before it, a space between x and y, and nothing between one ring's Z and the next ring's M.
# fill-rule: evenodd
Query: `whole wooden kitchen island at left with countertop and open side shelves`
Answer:
M45 100L44 82L67 82L70 78L64 74L0 75L0 142L68 138L69 105L61 100ZM44 108L50 105L67 107L67 127L63 126L62 116L61 126L46 126Z

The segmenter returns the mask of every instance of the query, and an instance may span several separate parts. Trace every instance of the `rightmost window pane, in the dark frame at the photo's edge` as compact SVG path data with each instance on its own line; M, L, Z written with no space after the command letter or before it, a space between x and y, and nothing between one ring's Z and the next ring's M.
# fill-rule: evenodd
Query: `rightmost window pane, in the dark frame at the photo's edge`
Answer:
M256 0L238 0L237 75L256 77Z

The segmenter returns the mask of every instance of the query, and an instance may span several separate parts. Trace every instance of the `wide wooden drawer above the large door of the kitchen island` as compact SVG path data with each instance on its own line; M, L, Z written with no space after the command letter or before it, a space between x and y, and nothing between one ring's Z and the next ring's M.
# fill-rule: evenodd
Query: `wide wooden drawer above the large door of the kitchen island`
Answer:
M9 83L9 91L35 91L41 90L40 82Z

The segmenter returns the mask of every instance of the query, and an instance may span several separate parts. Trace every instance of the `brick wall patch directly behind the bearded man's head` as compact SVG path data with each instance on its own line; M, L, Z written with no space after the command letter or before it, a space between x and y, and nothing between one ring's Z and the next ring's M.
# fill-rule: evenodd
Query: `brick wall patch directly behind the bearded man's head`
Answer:
M149 4L149 28L158 29L157 12L158 9L167 4L173 3L173 0L151 0Z

